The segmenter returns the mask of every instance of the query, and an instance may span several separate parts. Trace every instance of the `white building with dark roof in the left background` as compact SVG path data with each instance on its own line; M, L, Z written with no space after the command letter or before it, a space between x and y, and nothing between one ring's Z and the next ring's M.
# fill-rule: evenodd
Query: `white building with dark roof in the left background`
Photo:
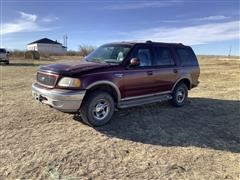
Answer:
M48 38L39 39L27 45L28 51L38 51L39 53L65 54L67 47L57 41Z

